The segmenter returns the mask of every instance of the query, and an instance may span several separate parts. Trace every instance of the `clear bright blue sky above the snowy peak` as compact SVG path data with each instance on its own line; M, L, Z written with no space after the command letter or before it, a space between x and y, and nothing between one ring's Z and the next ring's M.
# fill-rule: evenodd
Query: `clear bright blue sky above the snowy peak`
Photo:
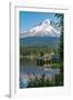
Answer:
M28 29L34 27L39 22L44 21L45 19L56 21L54 13L51 13L51 12L20 11L19 12L20 33L23 33Z

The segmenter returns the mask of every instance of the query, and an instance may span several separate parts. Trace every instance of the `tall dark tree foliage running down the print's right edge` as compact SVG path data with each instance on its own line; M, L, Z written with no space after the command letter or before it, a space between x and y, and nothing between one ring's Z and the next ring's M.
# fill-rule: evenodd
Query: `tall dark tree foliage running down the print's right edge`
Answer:
M60 61L62 63L62 67L61 67L61 72L59 76L55 76L55 86L63 86L64 83L64 71L63 71L63 51L64 51L64 46L63 46L63 42L64 42L64 14L63 13L55 13L55 17L58 18L58 26L59 28L61 28L61 37L60 37L60 43L59 43L59 48L58 48L58 52L60 54Z

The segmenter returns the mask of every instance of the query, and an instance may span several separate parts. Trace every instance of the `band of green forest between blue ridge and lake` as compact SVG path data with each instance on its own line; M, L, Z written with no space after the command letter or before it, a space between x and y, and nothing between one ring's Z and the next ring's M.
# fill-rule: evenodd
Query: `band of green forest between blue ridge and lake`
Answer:
M51 53L53 48L49 47L20 47L20 56L43 56L44 53Z

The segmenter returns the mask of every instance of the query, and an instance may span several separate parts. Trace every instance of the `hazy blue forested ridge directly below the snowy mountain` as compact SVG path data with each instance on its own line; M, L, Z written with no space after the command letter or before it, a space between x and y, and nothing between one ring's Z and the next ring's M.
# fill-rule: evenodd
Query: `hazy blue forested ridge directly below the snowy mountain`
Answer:
M28 37L20 38L20 46L33 46L33 47L58 47L60 38L58 37Z

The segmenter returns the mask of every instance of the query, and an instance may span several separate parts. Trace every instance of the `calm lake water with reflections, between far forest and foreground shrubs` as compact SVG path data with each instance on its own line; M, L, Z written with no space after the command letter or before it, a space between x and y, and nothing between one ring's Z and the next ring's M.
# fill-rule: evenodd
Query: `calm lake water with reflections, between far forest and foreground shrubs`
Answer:
M55 83L55 76L60 74L60 68L51 68L36 66L35 59L20 60L20 88L27 88L30 81L35 79L41 80L44 74L44 80Z

